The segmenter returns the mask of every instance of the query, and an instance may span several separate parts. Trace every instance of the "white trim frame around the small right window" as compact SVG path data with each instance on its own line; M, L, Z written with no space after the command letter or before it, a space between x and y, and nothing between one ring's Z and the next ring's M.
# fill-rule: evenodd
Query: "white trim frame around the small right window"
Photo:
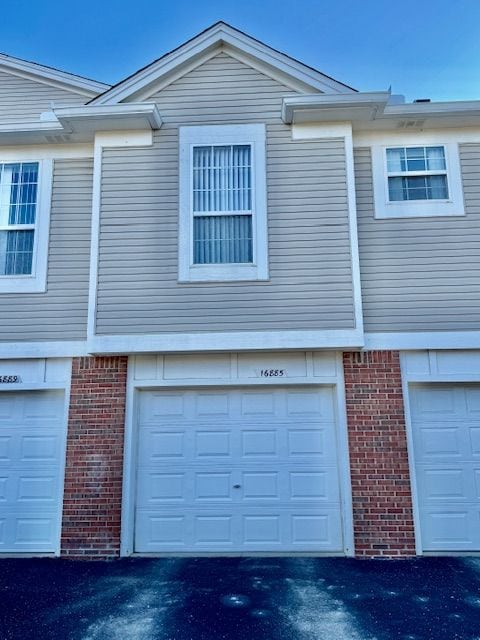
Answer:
M392 147L443 147L447 167L447 184L449 198L447 200L389 200L387 152ZM437 216L463 216L462 174L458 144L418 139L408 144L392 139L391 143L372 146L373 193L375 199L375 218L422 218ZM413 174L412 174L413 175Z

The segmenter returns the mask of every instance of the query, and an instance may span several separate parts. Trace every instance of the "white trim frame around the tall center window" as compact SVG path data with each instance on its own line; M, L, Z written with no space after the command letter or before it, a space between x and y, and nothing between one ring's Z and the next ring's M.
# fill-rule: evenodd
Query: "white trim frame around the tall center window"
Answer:
M265 125L180 127L179 282L268 280ZM248 144L253 164L253 263L193 264L192 147Z

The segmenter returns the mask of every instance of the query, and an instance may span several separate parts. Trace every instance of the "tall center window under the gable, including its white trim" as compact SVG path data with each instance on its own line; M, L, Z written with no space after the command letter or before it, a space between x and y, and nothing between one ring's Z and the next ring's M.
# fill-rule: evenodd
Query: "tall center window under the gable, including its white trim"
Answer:
M181 281L268 277L263 125L180 130Z

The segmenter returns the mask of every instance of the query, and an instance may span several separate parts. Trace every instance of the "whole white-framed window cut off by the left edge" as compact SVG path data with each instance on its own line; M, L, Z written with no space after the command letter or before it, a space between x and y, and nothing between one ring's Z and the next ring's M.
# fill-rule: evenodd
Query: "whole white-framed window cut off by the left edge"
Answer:
M51 162L0 163L0 293L44 291Z

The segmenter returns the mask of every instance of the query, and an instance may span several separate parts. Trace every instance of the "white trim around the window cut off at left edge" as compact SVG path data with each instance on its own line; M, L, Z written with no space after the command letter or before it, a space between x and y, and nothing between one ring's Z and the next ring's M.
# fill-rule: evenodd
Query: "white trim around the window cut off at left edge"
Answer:
M0 293L42 293L47 288L48 236L52 197L53 161L50 158L15 159L0 154L0 164L11 162L38 163L37 209L30 275L0 275Z

